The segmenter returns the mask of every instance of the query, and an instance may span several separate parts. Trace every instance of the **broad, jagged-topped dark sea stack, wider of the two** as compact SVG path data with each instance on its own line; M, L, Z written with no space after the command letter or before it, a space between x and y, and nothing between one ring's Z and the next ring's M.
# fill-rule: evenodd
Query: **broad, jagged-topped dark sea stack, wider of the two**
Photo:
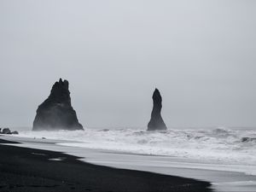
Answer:
M71 106L67 80L52 86L49 97L38 107L32 130L84 130Z

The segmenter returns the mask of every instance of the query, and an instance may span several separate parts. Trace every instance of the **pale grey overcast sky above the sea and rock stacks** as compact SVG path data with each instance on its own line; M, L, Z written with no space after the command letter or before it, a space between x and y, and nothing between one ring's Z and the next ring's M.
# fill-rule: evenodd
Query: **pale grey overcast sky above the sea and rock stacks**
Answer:
M256 1L0 0L0 126L60 77L86 127L256 126Z

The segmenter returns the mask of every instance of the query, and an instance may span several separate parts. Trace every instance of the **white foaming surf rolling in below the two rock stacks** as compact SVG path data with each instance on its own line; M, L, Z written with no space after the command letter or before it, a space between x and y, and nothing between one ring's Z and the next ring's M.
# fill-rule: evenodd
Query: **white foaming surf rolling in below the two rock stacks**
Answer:
M73 141L62 145L113 151L168 155L194 160L216 160L237 165L256 165L256 131L188 129L86 129L85 131L20 131L20 137L46 137Z

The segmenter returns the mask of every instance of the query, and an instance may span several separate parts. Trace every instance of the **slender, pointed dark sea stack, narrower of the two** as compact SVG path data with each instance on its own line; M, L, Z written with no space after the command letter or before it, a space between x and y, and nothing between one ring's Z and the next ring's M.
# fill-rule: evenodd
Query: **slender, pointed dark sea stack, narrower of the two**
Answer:
M166 124L161 117L162 97L158 89L154 90L152 99L153 99L153 110L151 113L151 119L148 123L148 131L166 130L167 129Z

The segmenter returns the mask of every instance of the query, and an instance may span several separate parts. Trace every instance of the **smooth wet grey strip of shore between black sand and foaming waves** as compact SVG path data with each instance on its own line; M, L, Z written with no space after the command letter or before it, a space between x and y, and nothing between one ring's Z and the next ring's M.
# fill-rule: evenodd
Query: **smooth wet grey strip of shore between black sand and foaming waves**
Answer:
M43 139L42 137L4 136L2 138L10 142L19 142L12 144L16 147L57 151L81 157L79 161L84 161L85 164L108 166L119 168L120 170L154 172L160 175L189 177L197 181L205 181L211 183L209 188L216 192L256 192L256 176L245 173L247 170L253 171L255 166L224 165L213 161L203 162L172 156L130 154L105 149L79 148L72 147L77 142Z

